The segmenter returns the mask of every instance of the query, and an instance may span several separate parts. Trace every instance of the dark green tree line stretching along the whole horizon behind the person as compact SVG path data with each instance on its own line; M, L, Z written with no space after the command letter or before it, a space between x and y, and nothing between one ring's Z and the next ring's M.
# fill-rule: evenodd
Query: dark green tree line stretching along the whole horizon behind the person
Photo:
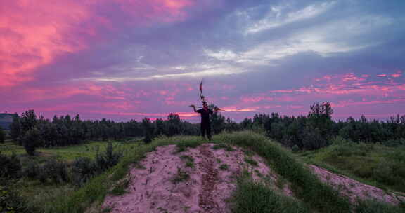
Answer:
M346 121L334 121L332 115L330 102L316 102L310 106L306 116L256 114L253 118L236 123L214 113L210 119L214 134L254 130L298 150L328 146L338 136L353 142L405 145L405 115L397 115L387 121L368 120L365 116L358 120L350 117ZM28 110L21 115L13 115L9 134L15 142L25 146L27 153L34 154L36 147L67 146L88 140L139 137L148 143L159 135L200 135L200 125L182 121L178 114L169 114L165 120L143 118L140 122L115 122L105 118L101 121L82 120L79 115L74 118L69 115L53 116L49 120ZM4 142L3 135L4 132L0 130L0 142Z

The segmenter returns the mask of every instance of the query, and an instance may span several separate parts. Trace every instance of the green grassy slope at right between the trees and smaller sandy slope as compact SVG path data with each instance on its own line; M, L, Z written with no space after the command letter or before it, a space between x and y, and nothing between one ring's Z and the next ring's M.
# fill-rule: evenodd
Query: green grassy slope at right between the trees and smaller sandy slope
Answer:
M405 193L405 147L362 144L335 139L334 144L316 151L296 153L306 163L325 167L390 191Z

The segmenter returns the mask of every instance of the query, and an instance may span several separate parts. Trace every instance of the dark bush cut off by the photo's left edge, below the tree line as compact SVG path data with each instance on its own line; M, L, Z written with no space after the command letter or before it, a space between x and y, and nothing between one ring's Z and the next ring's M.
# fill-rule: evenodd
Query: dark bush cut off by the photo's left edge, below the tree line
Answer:
M0 152L0 178L18 178L21 174L20 158L13 153L5 156Z

